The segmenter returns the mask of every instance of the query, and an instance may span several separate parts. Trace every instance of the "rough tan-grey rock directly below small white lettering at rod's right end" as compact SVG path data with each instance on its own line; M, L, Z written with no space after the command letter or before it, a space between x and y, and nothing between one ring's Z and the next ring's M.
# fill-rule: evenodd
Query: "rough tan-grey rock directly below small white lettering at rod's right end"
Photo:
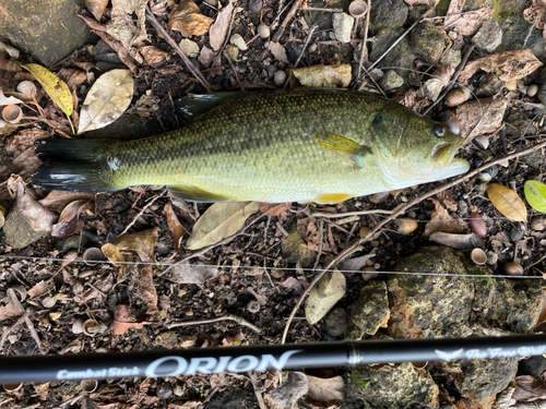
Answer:
M452 396L480 404L480 406L473 406L476 408L490 408L495 396L514 378L518 371L518 358L439 361L431 363L428 371L437 382L451 381ZM465 405L455 407L468 408Z

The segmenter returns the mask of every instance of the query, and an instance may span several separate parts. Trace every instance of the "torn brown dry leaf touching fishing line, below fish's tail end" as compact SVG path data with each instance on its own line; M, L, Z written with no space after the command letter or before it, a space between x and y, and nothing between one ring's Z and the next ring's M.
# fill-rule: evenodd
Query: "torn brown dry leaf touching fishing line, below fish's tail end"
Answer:
M143 262L154 261L154 248L157 242L157 229L154 227L138 233L124 234L110 243L104 244L100 250L116 266L122 265L126 257L121 252L136 252Z

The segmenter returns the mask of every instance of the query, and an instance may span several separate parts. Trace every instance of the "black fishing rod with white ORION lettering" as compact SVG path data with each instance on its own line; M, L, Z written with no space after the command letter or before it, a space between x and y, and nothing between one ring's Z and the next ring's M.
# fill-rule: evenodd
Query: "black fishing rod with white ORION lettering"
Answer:
M0 358L0 383L162 377L546 353L546 335L331 341Z

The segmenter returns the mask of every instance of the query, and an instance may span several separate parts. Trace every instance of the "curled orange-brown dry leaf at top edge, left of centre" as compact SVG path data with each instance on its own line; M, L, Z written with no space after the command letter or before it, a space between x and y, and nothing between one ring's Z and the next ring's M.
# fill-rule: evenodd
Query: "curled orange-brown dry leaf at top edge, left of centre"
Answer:
M209 31L212 22L214 19L201 14L193 1L183 0L170 11L168 27L180 32L183 37L201 36Z

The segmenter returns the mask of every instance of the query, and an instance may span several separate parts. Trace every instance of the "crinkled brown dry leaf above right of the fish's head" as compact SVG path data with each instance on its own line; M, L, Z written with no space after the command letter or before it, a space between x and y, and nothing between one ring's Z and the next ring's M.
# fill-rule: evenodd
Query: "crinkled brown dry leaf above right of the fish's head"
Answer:
M538 69L542 64L543 63L538 61L529 48L524 50L496 52L468 62L461 72L461 75L459 75L459 83L466 85L471 76L474 75L478 69L485 72L492 72L505 82L521 80Z

